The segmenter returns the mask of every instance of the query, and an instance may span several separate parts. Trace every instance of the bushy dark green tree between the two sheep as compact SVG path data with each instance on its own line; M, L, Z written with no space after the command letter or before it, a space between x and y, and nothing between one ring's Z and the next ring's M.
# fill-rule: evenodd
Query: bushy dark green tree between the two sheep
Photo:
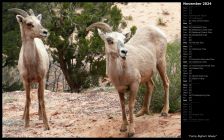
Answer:
M52 52L53 60L58 62L71 92L98 86L99 78L105 76L104 42L97 30L87 37L86 28L105 19L117 30L122 14L113 3L53 3L48 5L49 14L46 28L50 31L47 44L57 51ZM58 12L53 9L58 8ZM82 9L82 12L74 12ZM75 28L75 30L74 30ZM70 36L76 32L75 42ZM64 40L59 38L63 37Z

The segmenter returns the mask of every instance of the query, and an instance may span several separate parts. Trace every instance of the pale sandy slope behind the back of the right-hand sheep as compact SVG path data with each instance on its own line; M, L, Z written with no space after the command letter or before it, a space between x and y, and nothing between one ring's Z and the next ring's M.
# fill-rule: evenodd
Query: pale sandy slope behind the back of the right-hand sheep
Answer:
M132 16L132 20L126 20L127 31L135 25L142 28L147 25L159 27L167 36L168 42L180 39L181 34L181 3L175 2L130 2L127 5L117 3L124 17ZM158 25L161 18L165 26Z

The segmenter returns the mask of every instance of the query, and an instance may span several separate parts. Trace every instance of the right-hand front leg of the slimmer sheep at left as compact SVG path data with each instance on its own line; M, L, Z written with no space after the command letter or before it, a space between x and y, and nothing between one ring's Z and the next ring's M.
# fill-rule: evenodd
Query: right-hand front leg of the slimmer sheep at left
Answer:
M45 111L45 104L44 104L44 80L41 80L39 82L39 88L38 88L38 96L39 96L39 103L40 103L40 111L41 111L41 115L43 117L43 123L44 123L44 127L45 130L49 130L50 127L48 125L48 120L47 120L47 115L46 115L46 111Z

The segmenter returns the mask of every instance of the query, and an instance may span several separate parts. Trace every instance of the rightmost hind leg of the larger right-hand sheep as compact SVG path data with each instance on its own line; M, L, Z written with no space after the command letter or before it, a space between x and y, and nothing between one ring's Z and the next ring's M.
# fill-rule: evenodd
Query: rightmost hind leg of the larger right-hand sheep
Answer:
M165 96L164 96L164 107L161 111L161 115L162 116L167 116L168 112L169 112L169 79L166 73L166 61L161 61L161 63L159 63L157 65L157 69L159 71L159 74L162 78L163 81L163 87L164 87L164 92L165 92Z

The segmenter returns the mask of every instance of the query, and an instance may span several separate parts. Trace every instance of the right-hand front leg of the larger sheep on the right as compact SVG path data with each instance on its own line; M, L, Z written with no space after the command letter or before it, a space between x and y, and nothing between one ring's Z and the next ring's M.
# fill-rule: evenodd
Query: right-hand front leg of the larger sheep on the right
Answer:
M128 129L128 137L131 137L135 133L134 129L134 117L133 117L133 111L134 111L134 105L135 105L135 98L138 91L139 82L135 82L131 85L130 90L130 96L129 96L129 129Z

